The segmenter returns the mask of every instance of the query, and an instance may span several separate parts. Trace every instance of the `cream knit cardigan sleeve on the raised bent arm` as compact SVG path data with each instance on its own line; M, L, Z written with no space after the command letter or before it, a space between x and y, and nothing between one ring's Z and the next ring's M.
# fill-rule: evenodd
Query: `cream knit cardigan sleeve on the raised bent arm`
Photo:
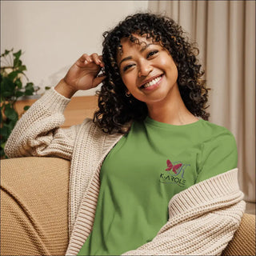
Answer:
M70 102L54 88L46 92L22 115L5 146L9 158L22 156L56 156L70 159L78 126L59 128L64 110Z

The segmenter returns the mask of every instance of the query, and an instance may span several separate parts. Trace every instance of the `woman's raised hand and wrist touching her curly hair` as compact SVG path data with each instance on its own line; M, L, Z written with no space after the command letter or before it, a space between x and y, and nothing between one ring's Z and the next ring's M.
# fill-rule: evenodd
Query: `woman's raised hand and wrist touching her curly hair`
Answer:
M78 90L94 88L106 78L106 76L98 75L103 66L102 56L82 54L54 89L67 98L71 98Z

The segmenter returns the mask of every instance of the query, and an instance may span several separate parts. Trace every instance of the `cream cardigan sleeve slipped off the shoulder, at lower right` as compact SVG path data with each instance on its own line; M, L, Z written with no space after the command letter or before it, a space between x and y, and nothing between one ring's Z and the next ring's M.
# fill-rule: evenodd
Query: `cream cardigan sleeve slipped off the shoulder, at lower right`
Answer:
M241 222L242 198L237 169L190 186L170 200L156 237L122 255L220 255Z

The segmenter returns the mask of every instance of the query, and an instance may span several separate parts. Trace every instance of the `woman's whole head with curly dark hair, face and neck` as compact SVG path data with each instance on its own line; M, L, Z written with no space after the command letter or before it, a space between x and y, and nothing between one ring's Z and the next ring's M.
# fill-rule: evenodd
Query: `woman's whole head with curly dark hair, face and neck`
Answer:
M109 133L122 132L126 122L141 121L147 115L176 125L197 121L194 116L208 120L209 89L196 58L198 49L176 22L135 14L104 36L106 79L99 93L99 111L94 116L99 126ZM157 77L161 81L154 86L143 86ZM164 86L167 83L170 85ZM130 98L127 94L131 94ZM113 106L111 113L105 106ZM174 113L176 116L170 117Z

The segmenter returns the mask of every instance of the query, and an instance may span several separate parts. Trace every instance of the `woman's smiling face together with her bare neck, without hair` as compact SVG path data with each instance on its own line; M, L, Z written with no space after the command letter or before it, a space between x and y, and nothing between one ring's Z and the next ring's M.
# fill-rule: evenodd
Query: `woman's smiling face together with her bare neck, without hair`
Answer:
M152 42L152 38L146 38L146 35L132 36L138 42L122 38L122 50L117 57L126 94L145 102L150 118L158 122L180 125L198 121L182 101L178 90L178 69L170 52L161 42ZM175 119L170 113L180 113L184 118Z

